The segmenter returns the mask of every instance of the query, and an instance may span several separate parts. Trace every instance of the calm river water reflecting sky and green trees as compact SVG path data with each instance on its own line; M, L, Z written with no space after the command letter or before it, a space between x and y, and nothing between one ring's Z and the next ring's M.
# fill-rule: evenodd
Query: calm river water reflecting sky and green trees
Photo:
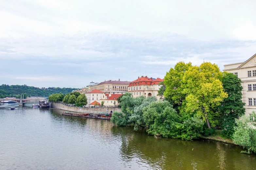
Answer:
M1 104L0 169L256 170L256 155L235 145L154 138L145 130L61 112Z

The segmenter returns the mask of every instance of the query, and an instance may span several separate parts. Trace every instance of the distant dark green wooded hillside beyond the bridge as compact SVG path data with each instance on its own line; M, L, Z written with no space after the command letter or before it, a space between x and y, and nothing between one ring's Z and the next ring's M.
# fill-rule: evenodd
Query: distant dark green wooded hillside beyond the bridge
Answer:
M59 87L48 87L48 88L38 88L33 86L25 85L6 85L2 84L0 86L0 98L4 97L20 97L20 94L25 94L25 96L49 96L53 93L69 93L76 88L59 88Z

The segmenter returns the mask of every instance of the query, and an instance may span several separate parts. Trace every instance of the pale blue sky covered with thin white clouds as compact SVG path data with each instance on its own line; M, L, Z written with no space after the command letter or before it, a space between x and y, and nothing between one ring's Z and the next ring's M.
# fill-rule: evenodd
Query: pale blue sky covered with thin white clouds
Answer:
M256 53L255 0L0 0L0 84L164 78Z

